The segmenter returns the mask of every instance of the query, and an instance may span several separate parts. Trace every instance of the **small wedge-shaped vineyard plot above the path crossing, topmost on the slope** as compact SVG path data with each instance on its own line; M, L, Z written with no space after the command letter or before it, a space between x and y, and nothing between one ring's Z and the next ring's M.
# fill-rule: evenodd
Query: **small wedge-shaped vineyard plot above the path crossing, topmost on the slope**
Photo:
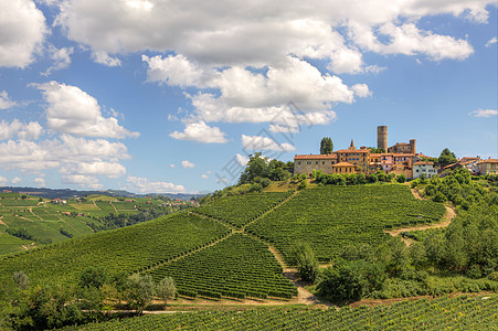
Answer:
M276 206L292 194L293 192L268 192L232 195L202 206L198 209L197 212L223 220L231 225L242 227Z

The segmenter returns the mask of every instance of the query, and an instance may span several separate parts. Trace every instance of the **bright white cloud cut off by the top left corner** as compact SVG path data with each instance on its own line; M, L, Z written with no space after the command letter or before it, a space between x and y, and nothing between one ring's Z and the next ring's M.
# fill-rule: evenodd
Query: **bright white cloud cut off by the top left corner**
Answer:
M31 0L0 2L0 66L24 68L34 62L47 29Z

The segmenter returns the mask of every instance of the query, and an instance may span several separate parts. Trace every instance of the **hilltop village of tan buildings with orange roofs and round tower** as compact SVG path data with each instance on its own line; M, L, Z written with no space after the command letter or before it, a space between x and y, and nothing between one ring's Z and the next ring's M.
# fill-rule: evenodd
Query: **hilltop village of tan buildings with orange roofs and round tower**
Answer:
M445 167L436 167L430 157L416 151L416 140L396 142L388 147L388 127L377 128L377 149L357 148L353 140L348 149L336 150L326 154L296 154L294 157L294 173L311 174L321 170L322 173L377 173L404 174L406 179L420 177L432 178L446 169L465 168L474 174L498 173L498 159L481 160L479 157L464 157L457 162ZM375 152L372 152L375 151ZM380 151L380 152L379 152Z

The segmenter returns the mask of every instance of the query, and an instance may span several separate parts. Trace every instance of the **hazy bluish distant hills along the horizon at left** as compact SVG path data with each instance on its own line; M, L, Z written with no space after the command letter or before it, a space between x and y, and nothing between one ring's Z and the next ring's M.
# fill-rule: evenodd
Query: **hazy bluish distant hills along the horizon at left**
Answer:
M136 194L124 190L100 190L100 191L77 191L71 189L45 189L45 188L12 188L12 186L0 186L0 192L12 191L14 193L20 194L29 194L41 196L45 199L71 199L74 196L83 196L83 195L109 195L109 196L124 196L124 197L142 197L147 195L157 196L157 195L166 195L170 199L180 199L183 201L191 200L192 197L201 197L205 194L188 194L188 193L149 193L149 194Z

